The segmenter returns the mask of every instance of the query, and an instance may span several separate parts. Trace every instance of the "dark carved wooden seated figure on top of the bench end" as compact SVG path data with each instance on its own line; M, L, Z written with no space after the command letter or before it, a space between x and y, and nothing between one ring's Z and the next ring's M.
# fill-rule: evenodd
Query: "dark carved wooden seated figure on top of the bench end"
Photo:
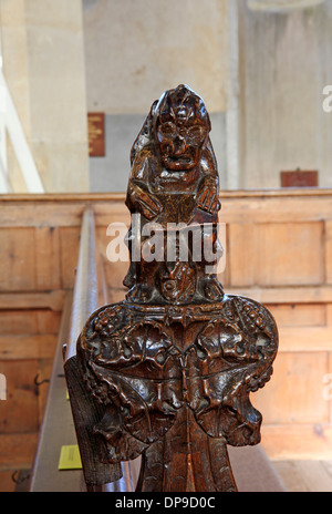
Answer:
M138 229L144 233L144 226L149 224L170 236L169 225L181 223L194 234L198 234L200 228L200 240L193 236L189 257L181 264L178 258L169 260L166 251L158 259L147 261L142 251L124 280L131 288L128 299L132 301L160 301L160 297L172 302L222 298L215 274L206 273L206 267L216 265L220 255L217 239L219 179L209 140L210 128L203 100L181 84L154 102L133 145L126 205L132 214L141 215ZM188 228L178 230L178 244L185 241L187 233ZM137 240L137 230L133 234L131 229L129 248L133 239ZM154 239L143 235L145 254L146 250L153 251ZM200 245L199 261L193 258L193 244ZM212 248L209 261L205 251L208 247ZM162 282L160 288L156 288L158 281ZM193 281L197 286L194 289Z

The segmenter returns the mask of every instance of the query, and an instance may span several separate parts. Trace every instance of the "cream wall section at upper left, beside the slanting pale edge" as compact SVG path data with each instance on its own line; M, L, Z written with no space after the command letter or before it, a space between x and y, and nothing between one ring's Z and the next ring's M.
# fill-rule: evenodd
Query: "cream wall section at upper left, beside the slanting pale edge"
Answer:
M0 0L0 24L3 73L45 191L89 191L81 0Z

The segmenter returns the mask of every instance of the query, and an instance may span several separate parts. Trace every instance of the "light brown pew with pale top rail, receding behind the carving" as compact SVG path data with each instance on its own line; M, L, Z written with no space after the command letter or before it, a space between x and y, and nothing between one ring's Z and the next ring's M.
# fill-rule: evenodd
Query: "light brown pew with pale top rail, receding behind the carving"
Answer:
M31 492L133 492L139 473L139 459L123 464L123 477L98 487L86 487L83 470L59 470L61 448L76 445L77 438L66 394L64 363L75 354L75 342L89 315L107 302L104 278L98 270L94 216L91 207L83 214L75 287L68 292L55 351L49 395L38 452L32 470ZM65 352L63 345L66 345ZM80 439L80 438L79 438ZM286 489L260 445L229 448L229 456L239 492L284 492ZM82 472L83 471L83 472Z

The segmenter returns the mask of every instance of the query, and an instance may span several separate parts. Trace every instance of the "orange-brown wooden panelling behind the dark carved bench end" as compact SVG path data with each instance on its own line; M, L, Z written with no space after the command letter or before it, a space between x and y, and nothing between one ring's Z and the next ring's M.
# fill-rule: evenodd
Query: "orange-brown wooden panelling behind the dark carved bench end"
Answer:
M331 459L331 382L323 380L332 373L332 189L221 192L220 201L220 281L227 292L266 304L280 331L273 380L253 395L262 446L270 459ZM0 197L0 373L10 392L0 403L2 470L33 462L87 206L107 301L120 301L127 263L107 260L106 229L129 223L124 194Z

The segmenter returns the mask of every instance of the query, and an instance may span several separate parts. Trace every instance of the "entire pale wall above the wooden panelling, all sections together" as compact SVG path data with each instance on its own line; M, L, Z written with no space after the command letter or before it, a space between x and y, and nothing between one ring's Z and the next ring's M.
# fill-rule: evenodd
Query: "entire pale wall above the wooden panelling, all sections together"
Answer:
M332 0L288 13L250 11L247 0L0 0L0 24L4 74L49 192L89 189L86 111L116 128L98 172L113 191L141 116L180 82L219 116L222 187L279 187L280 171L298 166L332 185L322 109Z

